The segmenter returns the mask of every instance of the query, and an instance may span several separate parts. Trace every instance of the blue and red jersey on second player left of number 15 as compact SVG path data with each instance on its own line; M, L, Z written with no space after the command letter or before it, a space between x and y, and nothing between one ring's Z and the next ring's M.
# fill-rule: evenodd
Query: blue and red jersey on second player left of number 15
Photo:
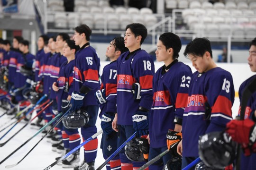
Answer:
M50 78L49 78L49 84L51 87L51 92L50 92L50 99L56 99L56 92L52 89L52 85L54 82L57 81L59 77L59 72L60 72L60 66L67 61L67 58L65 58L63 55L60 53L56 53L51 61L50 61Z

